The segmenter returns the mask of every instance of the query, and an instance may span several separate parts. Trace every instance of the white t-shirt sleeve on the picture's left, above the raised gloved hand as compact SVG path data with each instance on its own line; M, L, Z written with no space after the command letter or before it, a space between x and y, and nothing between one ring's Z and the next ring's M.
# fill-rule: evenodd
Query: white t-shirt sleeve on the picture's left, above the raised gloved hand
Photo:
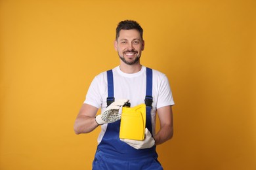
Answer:
M85 101L83 103L92 105L98 109L101 107L102 95L100 95L100 93L101 93L100 84L101 84L100 75L95 76L95 78L91 82L91 85L89 86L87 95L85 97Z

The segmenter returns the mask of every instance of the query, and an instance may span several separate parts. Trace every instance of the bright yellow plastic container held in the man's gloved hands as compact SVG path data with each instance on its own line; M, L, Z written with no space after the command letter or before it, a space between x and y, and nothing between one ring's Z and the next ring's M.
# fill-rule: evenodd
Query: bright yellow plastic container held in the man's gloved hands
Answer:
M120 139L144 140L146 128L146 105L123 107L119 131Z

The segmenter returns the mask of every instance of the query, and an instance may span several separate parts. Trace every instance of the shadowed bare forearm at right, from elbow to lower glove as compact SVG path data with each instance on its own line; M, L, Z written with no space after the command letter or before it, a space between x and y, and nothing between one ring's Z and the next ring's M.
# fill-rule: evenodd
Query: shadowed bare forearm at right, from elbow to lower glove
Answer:
M164 125L160 128L160 131L154 135L156 145L164 143L173 137L173 126Z

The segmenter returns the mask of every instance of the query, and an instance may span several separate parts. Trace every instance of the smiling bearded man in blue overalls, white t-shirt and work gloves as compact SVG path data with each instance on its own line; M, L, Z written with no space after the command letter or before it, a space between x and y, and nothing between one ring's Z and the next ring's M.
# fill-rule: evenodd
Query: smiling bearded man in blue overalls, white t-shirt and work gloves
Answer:
M173 136L174 102L167 77L140 65L144 50L142 35L143 29L137 22L119 22L114 47L120 65L94 78L75 120L76 134L89 133L101 126L93 169L163 169L157 159L156 145ZM120 112L127 101L131 107L146 104L143 141L119 139ZM96 116L99 108L101 114ZM157 133L156 111L160 119Z

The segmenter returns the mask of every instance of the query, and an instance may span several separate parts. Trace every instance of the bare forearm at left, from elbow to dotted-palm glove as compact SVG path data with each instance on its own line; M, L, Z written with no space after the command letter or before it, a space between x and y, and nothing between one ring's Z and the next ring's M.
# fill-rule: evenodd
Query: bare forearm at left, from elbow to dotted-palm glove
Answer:
M80 133L89 133L96 127L98 127L98 124L94 117L79 115L75 120L74 131L78 135Z

